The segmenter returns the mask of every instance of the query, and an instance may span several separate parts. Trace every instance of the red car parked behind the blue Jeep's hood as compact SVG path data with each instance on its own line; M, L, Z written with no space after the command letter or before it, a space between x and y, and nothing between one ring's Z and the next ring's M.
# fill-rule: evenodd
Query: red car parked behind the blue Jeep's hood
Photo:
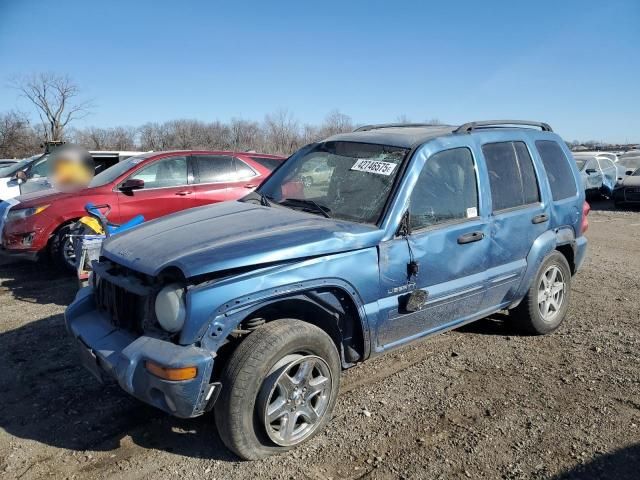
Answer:
M109 205L109 220L114 223L138 214L152 220L241 198L283 160L275 155L208 151L137 155L96 175L80 192L44 190L17 197L19 203L0 214L2 250L29 259L49 251L56 263L73 267L75 255L68 235L74 222L86 214L88 202Z

